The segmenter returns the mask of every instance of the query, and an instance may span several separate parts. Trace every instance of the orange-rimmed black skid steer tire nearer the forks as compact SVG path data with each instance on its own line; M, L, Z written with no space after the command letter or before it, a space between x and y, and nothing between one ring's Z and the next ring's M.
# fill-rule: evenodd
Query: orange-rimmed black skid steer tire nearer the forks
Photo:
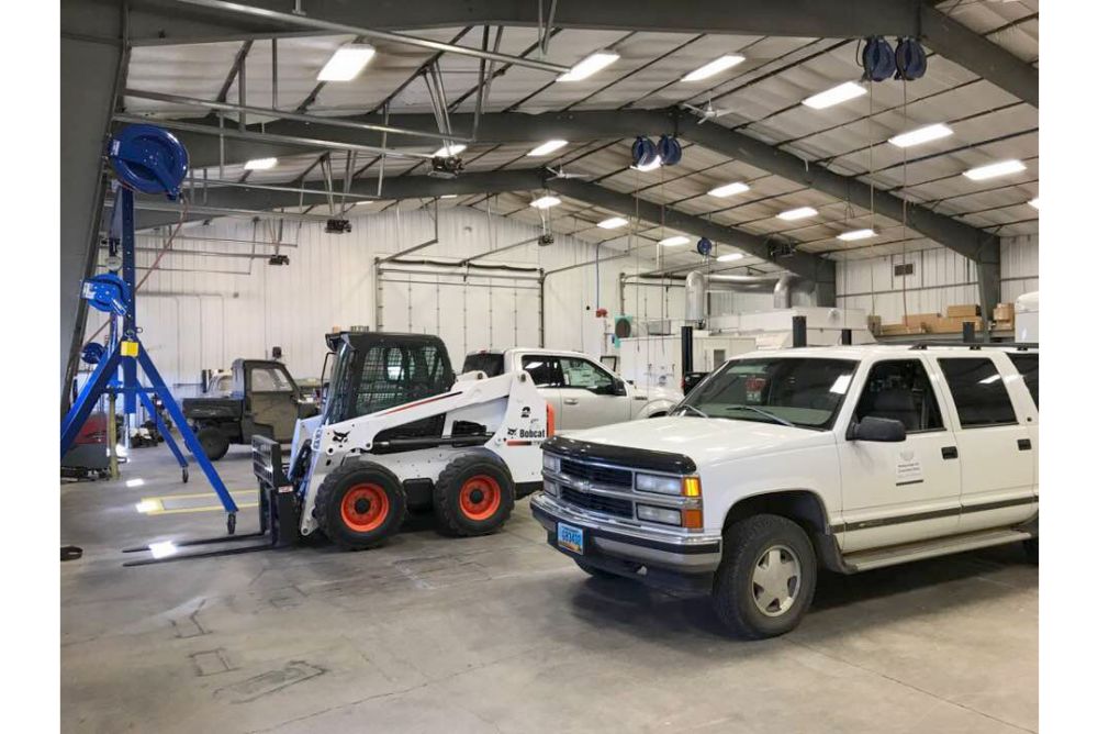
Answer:
M313 516L341 548L371 548L400 530L407 501L392 471L378 464L344 464L316 490Z

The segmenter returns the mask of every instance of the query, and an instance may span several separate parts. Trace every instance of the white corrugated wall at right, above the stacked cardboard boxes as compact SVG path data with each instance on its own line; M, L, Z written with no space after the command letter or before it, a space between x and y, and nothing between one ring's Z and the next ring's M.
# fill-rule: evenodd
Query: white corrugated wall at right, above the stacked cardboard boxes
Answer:
M1002 240L1004 302L1038 290L1038 253L1037 235ZM912 264L914 273L896 276L896 266L904 263ZM979 301L976 268L944 247L839 262L836 278L838 305L865 309L884 323L899 323L905 313L944 313L949 305Z

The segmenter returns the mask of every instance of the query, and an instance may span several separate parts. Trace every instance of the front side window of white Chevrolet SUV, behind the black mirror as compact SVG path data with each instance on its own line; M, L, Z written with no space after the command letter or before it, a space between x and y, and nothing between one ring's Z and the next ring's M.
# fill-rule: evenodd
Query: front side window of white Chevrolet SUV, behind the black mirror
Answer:
M918 359L878 362L873 365L854 415L899 421L908 433L944 427L930 378Z

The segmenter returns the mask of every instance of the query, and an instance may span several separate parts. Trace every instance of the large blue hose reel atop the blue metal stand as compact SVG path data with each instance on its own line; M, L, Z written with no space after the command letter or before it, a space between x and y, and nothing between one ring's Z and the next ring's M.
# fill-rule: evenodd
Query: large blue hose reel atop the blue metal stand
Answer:
M142 193L179 198L187 178L187 148L179 138L156 125L128 125L110 145L111 166L126 186Z

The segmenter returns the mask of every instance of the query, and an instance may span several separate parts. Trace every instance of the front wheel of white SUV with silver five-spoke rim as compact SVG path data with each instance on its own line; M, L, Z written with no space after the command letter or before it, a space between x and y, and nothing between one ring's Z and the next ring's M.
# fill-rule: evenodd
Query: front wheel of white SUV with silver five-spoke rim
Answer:
M800 623L816 592L816 554L805 531L778 515L754 515L725 531L713 607L736 636L761 640Z

